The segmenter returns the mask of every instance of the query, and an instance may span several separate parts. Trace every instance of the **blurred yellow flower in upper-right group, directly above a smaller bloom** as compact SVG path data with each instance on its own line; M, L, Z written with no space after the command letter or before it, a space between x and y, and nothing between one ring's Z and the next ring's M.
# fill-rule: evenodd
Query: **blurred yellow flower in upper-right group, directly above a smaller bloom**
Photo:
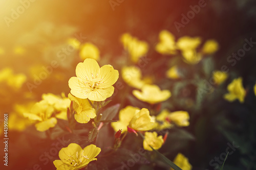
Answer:
M178 39L177 46L181 51L195 50L201 44L199 37L184 36Z

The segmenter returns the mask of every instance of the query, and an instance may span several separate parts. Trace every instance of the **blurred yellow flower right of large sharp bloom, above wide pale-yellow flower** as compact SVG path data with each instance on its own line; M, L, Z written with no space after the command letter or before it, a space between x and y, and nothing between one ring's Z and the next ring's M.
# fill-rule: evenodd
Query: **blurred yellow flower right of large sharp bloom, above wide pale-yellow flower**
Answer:
M141 89L145 84L145 82L141 80L141 76L141 71L136 66L125 66L122 68L123 80L134 88Z

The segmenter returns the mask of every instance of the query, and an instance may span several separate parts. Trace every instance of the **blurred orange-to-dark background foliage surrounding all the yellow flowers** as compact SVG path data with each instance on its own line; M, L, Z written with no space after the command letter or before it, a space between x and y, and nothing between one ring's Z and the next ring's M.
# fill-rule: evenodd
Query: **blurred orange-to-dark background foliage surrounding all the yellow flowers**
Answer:
M235 143L239 148L228 156L224 169L256 169L256 97L253 92L256 82L254 56L256 48L252 47L234 66L227 62L228 56L237 53L243 47L244 39L256 40L255 1L206 1L207 5L178 32L174 22L181 22L181 14L186 14L190 10L189 6L197 5L198 2L124 0L113 10L110 1L35 1L31 2L30 7L14 22L10 22L10 27L7 27L4 19L1 19L1 70L10 67L14 74L26 75L26 83L33 83L34 76L38 76L44 70L43 66L51 66L52 60L57 60L59 64L57 68L53 68L52 74L48 75L46 80L32 89L32 92L26 83L18 90L16 87L2 83L1 117L8 112L9 126L20 122L26 124L27 119L22 117L22 113L18 115L21 109L17 109L16 105L31 105L30 102L41 100L43 93L61 94L64 91L66 96L68 95L70 91L68 80L75 76L75 66L81 62L81 59L78 57L78 51L73 51L63 61L56 57L56 54L62 52L62 47L68 44L67 40L75 38L76 35L82 35L84 42L91 42L99 48L100 66L111 64L120 73L127 57L120 43L120 37L128 32L150 44L147 57L152 60L146 67L141 68L142 75L155 75L154 83L172 92L172 97L160 107L169 110L186 110L190 114L190 125L170 129L166 144L159 152L170 160L181 152L189 159L193 169L214 169L215 166L212 166L210 161L226 152L227 143ZM19 5L19 1L12 3L1 1L1 18L10 17L11 9ZM197 66L188 65L175 57L169 60L170 56L163 56L154 50L159 32L162 30L168 30L176 39L183 36L199 36L203 42L215 39L220 49L213 56L204 58ZM164 79L165 71L174 63L179 64L181 73L189 79ZM208 81L211 72L220 70L223 65L229 69L228 79L221 86L212 86L211 90L199 95L198 89L204 88L204 80ZM243 86L246 89L243 104L239 101L229 103L223 99L227 85L237 77L243 78ZM118 82L125 85L121 76ZM117 95L111 98L113 101L110 106L121 104L122 108L126 105L151 107L138 101L132 95L131 87L125 85L125 88L117 90ZM116 107L113 112L117 113L118 109ZM11 120L12 112L19 116L18 121ZM65 124L61 120L58 121L59 127L52 130L50 137L47 137L46 133L36 131L34 126L24 128L22 132L20 129L9 130L8 168L33 169L34 164L39 164L42 169L55 169L52 161L58 159L57 154L48 159L49 163L41 161L40 157L55 147L56 142L59 141L57 136L62 136L69 143L78 142L87 145L88 132L84 131L84 125L76 127L76 134L70 134L68 131L61 131L61 134L58 134L57 128ZM104 126L97 136L96 145L100 148L108 147L113 143L113 136L113 129ZM139 148L142 147L141 142L141 138L129 135L122 143L124 147L111 157L99 157L98 161L90 163L88 168L115 169L121 166L120 162L131 158L129 154L138 153ZM104 152L102 155L105 155ZM145 165L141 166L142 164ZM157 163L145 163L142 160L132 169L166 169L166 167Z

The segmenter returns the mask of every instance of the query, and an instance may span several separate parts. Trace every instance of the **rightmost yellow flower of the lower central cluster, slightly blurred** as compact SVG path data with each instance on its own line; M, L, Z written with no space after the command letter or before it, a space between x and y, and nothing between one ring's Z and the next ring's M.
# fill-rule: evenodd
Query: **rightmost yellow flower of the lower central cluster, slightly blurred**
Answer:
M170 122L174 122L177 126L189 126L189 114L186 111L175 111L170 113L168 116Z

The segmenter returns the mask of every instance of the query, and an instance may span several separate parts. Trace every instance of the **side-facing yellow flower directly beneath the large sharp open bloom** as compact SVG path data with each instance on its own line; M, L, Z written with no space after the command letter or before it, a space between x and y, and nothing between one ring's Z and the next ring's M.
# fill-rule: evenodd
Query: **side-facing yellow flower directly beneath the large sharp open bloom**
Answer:
M80 99L69 93L69 99L73 101L73 108L76 111L74 117L78 123L86 124L91 118L96 117L95 109L92 108L88 99Z

